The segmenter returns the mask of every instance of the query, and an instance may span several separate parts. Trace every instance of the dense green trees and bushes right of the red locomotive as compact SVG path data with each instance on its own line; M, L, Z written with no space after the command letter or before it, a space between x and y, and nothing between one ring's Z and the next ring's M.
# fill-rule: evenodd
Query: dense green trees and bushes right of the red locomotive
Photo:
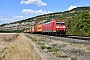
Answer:
M67 21L67 34L90 36L90 12L84 11L82 14L73 16Z

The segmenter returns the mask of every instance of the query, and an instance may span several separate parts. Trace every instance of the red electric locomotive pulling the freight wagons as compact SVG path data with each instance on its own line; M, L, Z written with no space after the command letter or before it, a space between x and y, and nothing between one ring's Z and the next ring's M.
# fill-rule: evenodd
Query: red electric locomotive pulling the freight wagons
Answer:
M48 34L66 34L66 24L64 20L53 20L51 22L47 22L43 24L42 27L43 33Z

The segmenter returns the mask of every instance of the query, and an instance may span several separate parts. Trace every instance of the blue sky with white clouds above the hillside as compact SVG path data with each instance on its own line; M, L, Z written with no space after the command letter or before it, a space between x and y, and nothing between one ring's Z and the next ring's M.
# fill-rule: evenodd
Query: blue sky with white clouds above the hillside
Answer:
M0 24L90 6L90 0L0 0Z

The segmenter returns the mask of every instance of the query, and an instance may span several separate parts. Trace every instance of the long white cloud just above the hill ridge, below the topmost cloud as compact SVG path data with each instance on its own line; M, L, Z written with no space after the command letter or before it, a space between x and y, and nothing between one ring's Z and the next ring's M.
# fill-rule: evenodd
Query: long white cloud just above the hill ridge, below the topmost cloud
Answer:
M43 11L42 9L40 10L32 10L32 9L23 9L22 10L23 13L25 14L38 14L38 15L42 15L42 14L48 14L48 13L52 13L51 11Z

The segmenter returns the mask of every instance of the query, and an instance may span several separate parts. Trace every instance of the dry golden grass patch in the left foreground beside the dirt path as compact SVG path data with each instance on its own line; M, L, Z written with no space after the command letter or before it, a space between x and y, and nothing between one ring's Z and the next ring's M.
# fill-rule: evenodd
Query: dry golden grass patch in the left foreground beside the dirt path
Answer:
M1 49L1 60L43 60L36 45L25 35L20 34L16 39L12 36L12 40L5 40ZM5 48L6 47L6 48Z

